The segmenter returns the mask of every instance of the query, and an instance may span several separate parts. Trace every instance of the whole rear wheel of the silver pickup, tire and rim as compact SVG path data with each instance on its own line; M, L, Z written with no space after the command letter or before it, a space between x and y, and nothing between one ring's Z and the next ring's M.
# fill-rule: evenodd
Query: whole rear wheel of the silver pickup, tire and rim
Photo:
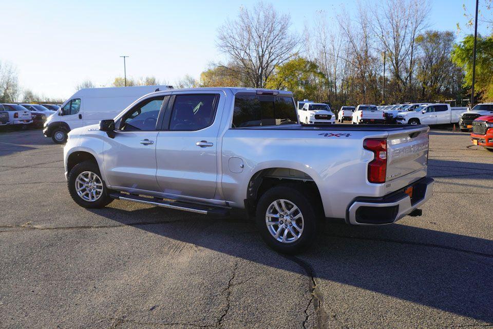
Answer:
M280 185L260 197L256 211L257 228L272 249L294 253L315 240L319 212L309 195L302 189Z

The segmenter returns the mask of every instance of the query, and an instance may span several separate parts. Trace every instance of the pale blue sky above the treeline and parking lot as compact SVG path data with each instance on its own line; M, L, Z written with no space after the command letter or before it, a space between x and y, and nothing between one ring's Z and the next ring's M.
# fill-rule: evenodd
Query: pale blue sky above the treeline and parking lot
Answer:
M5 1L1 5L0 61L17 66L20 84L48 97L67 98L85 79L109 85L123 76L153 75L173 84L185 74L197 78L211 62L221 59L216 31L240 6L256 1ZM356 1L272 1L289 13L293 29L302 32L318 10L330 17ZM431 0L430 28L456 31L466 19L462 5L472 12L473 0ZM481 1L480 1L481 3ZM480 26L485 32L485 27ZM471 32L464 30L464 32ZM458 36L460 38L461 35Z

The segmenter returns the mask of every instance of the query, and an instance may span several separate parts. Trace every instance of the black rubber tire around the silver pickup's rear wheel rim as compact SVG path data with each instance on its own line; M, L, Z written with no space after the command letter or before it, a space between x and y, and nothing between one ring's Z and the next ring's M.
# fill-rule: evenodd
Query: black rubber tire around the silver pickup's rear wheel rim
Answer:
M316 239L317 229L323 227L321 222L321 211L312 194L299 186L280 185L267 190L258 200L256 210L256 224L260 235L272 249L282 253L296 253L308 247ZM269 232L266 224L266 212L269 206L278 199L286 199L296 205L304 218L304 227L298 240L291 243L283 243L275 239ZM279 226L278 226L279 227Z

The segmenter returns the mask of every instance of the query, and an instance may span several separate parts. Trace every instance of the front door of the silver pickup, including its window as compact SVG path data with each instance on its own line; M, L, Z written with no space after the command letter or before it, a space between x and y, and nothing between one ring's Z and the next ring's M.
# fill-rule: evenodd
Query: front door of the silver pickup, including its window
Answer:
M126 191L159 191L156 180L156 124L164 96L147 98L117 123L114 138L105 137L107 184Z

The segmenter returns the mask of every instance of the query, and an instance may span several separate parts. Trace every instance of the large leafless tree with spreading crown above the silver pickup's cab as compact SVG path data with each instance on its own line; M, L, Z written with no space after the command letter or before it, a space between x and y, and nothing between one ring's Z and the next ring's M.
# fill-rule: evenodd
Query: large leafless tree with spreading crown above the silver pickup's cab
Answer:
M290 32L290 26L289 15L258 3L252 11L241 8L236 20L227 20L219 28L217 47L229 62L241 68L251 86L263 87L274 68L299 51L300 38Z

